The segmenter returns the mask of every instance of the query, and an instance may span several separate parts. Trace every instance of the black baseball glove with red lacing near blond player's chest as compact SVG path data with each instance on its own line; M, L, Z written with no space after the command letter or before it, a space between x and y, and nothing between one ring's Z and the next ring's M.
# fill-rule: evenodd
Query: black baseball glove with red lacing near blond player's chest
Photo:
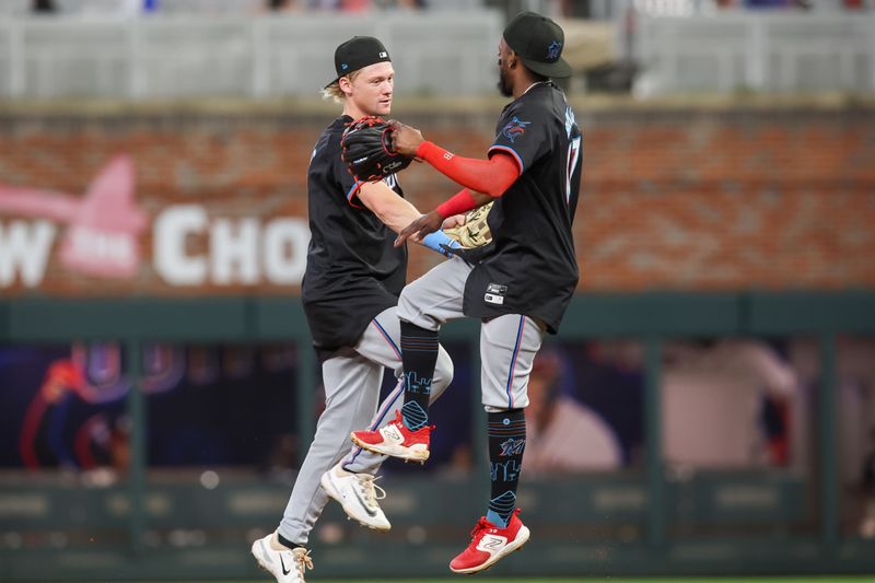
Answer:
M382 180L410 165L411 159L392 150L392 126L377 116L351 123L340 138L340 158L357 182Z

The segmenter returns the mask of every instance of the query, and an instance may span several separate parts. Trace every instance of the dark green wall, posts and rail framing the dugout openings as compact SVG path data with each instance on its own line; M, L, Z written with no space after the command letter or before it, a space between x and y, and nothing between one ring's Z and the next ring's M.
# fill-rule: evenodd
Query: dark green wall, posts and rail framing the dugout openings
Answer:
M871 538L845 524L856 499L840 486L837 341L875 334L872 293L586 294L568 317L568 340L631 337L646 351L646 453L638 468L526 481L521 504L538 533L524 560L497 568L514 574L630 573L866 573L875 569ZM665 342L696 337L816 339L821 360L810 439L816 462L792 468L678 473L663 458L661 353ZM476 350L472 323L451 324L444 341ZM118 340L126 374L137 386L143 348L154 341L256 345L308 343L295 301L234 298L192 301L18 300L0 303L5 346L70 340ZM315 385L313 354L299 352L298 387ZM468 389L477 394L477 376ZM456 385L464 386L459 380ZM257 390L258 387L249 387ZM314 396L296 390L299 411ZM319 575L438 575L458 547L469 516L486 495L482 413L476 398L474 471L466 476L392 477L386 509L396 527L369 534L329 506L314 534ZM289 486L249 473L219 469L210 486L202 468L155 471L147 462L149 409L144 390L130 390L131 458L119 481L80 481L73 475L24 473L0 481L0 575L25 580L142 580L246 578L255 574L245 540L264 532L284 506ZM457 415L459 412L457 411ZM160 420L155 420L160 422ZM298 436L308 443L313 417ZM226 428L234 430L233 427ZM209 467L209 466L207 466ZM462 495L462 492L465 494ZM849 505L851 504L851 505ZM849 528L849 526L851 526ZM324 533L324 534L323 534ZM42 543L40 543L42 541ZM381 560L376 563L374 558ZM521 556L522 557L522 556Z

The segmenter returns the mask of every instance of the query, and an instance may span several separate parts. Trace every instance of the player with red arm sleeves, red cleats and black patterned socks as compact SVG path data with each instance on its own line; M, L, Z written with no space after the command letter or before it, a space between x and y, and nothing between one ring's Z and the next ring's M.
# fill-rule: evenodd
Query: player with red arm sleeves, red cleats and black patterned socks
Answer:
M499 88L513 97L487 160L457 156L396 124L394 149L434 166L465 189L401 230L396 244L440 229L444 218L494 200L492 243L454 250L401 292L405 404L395 421L353 441L387 455L428 457L429 389L443 323L475 317L480 328L482 404L488 411L491 495L468 547L450 563L476 573L521 548L516 486L525 448L527 385L545 333L556 334L578 284L572 222L581 179L581 132L550 81L571 74L564 34L533 12L514 18L499 42ZM408 350L413 347L415 350Z

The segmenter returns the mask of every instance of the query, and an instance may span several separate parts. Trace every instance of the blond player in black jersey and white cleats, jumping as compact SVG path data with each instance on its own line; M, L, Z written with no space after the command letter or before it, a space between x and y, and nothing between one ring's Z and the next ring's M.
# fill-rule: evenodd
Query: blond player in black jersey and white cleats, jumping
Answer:
M324 95L342 103L343 113L323 131L307 171L312 238L302 283L304 312L322 364L325 411L282 522L252 546L258 564L279 583L302 583L305 570L313 568L307 539L329 498L361 524L390 528L377 503L385 492L374 485L385 455L350 450L347 436L369 421L380 427L402 403L397 301L405 284L407 248L397 245L396 234L420 213L404 199L395 174L362 183L341 160L348 125L390 112L395 72L386 48L376 38L353 37L337 48L335 69L337 79ZM452 245L443 233L413 241L438 252ZM436 342L434 348L432 399L453 377L448 354ZM377 407L384 368L394 370L399 382Z

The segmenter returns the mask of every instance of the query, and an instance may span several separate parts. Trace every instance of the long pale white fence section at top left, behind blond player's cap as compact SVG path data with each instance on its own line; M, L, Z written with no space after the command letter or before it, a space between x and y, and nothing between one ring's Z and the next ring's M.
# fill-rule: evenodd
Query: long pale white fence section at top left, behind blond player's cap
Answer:
M389 49L399 93L494 91L499 13L0 20L0 97L314 95L354 35Z

